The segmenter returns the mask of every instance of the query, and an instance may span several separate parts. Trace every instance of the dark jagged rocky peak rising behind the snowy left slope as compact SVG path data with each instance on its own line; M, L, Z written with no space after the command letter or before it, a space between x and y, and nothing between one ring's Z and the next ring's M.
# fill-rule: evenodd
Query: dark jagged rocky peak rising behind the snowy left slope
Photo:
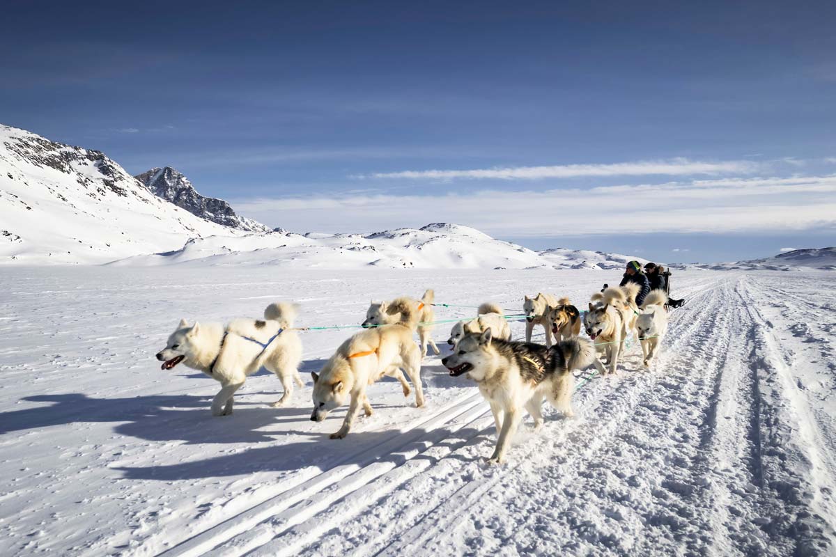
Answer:
M224 200L200 195L191 181L180 171L166 166L152 168L147 172L135 176L153 194L166 201L171 201L181 209L189 211L201 219L212 220L219 225L246 230L247 232L272 232L268 225L257 220L235 214L232 207Z

